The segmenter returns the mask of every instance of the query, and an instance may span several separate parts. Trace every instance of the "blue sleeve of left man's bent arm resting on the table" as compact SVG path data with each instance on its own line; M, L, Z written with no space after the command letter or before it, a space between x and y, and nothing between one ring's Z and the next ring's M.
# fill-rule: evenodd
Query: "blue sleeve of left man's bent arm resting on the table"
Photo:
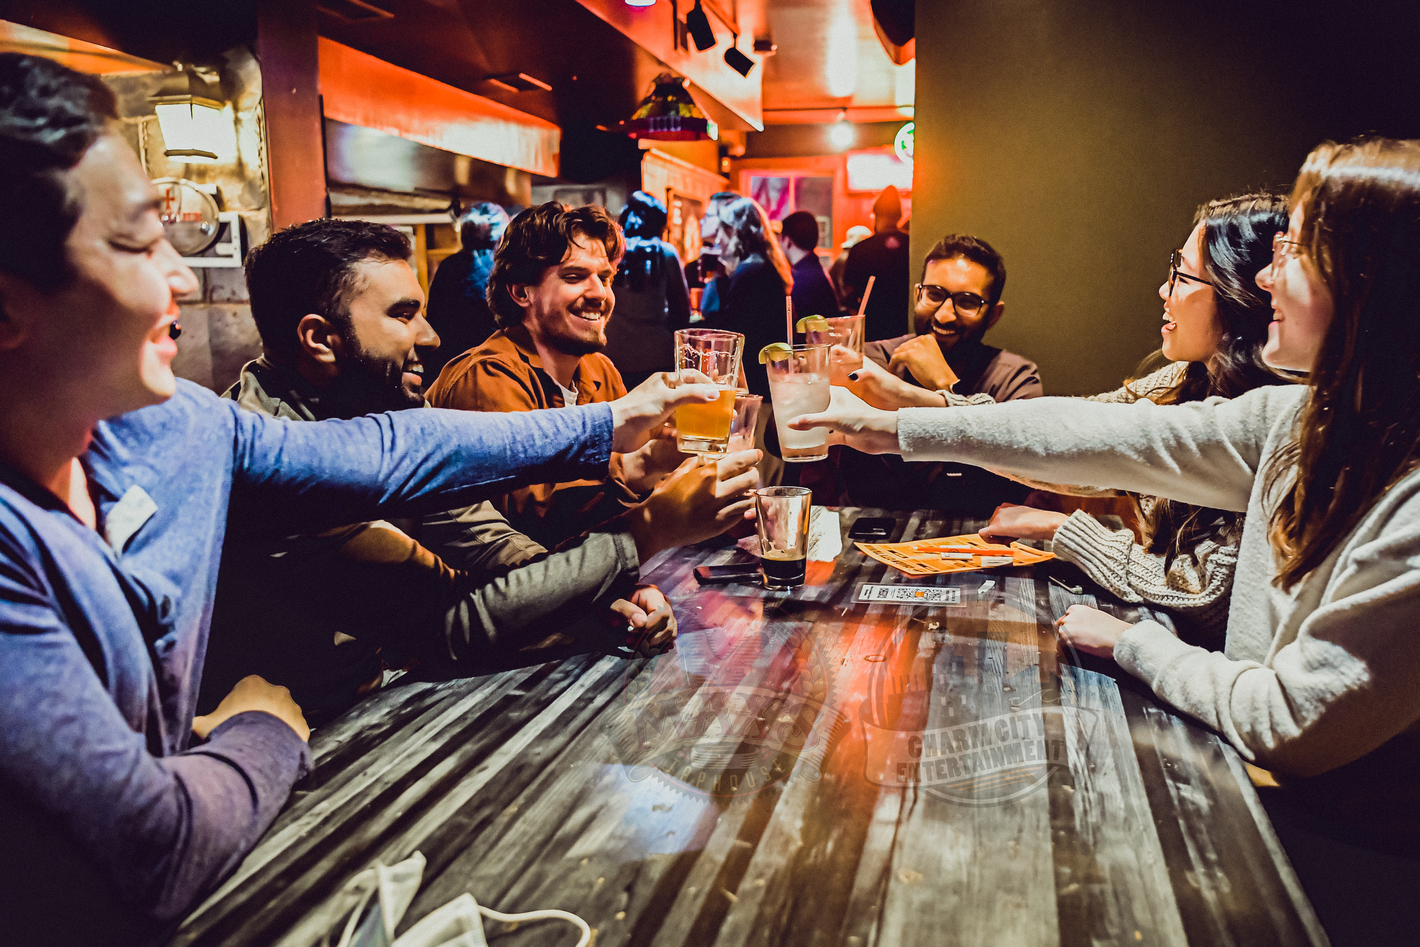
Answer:
M23 559L0 569L0 779L152 917L179 916L256 843L308 765L275 717L156 757Z

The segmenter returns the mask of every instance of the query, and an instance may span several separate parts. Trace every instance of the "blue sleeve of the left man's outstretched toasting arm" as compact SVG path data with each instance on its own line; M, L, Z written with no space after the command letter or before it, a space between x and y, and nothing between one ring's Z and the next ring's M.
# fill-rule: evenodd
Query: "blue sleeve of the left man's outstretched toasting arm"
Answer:
M402 410L295 423L236 416L230 527L283 535L466 507L532 483L601 478L611 407Z

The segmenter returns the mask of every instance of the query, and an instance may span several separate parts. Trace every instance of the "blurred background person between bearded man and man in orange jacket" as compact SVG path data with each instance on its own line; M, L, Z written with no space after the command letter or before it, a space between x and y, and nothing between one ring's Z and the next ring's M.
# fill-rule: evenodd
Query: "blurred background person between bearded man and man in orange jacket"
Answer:
M433 385L439 372L498 331L488 308L488 274L493 251L508 226L508 212L480 200L459 214L459 251L446 257L429 284L429 325L439 334L439 348L425 358L425 383Z

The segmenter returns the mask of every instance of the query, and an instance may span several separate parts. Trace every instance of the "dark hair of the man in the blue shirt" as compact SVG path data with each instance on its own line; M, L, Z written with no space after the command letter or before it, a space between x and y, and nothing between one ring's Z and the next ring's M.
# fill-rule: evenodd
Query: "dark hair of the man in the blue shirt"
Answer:
M68 172L115 115L114 94L98 78L0 53L0 270L41 290L68 283L64 241L82 212Z

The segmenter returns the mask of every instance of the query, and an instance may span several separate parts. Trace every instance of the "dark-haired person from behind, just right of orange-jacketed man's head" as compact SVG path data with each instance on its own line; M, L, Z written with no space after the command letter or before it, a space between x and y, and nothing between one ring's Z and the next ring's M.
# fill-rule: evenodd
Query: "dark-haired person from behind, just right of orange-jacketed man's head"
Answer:
M626 256L612 280L616 311L606 322L606 358L626 388L676 368L674 331L690 325L690 291L676 248L660 239L666 204L635 192L621 213Z

